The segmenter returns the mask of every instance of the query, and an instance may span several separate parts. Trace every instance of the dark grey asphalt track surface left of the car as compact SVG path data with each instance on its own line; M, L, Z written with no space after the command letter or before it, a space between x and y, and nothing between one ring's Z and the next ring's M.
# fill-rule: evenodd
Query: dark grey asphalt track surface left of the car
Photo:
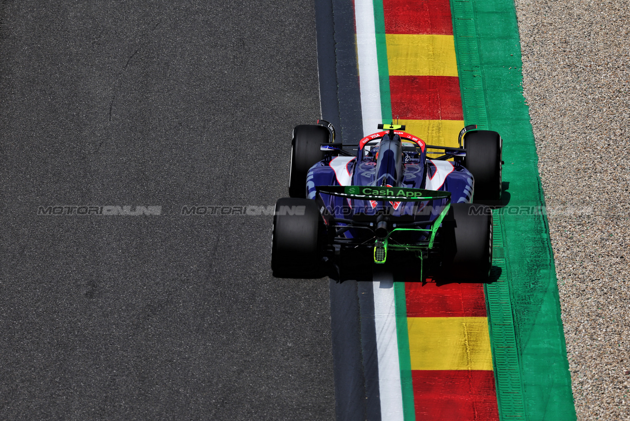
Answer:
M287 195L317 69L309 1L1 3L0 419L335 417L328 282L179 215Z

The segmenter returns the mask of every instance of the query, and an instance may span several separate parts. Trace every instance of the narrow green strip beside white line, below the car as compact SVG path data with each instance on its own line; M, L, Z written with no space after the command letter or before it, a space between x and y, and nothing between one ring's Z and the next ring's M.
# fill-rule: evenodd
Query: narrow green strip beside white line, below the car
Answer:
M394 303L396 303L396 335L398 336L400 383L403 391L403 415L405 421L415 421L416 410L413 402L413 381L411 379L411 355L409 352L407 300L404 294L404 280L394 282Z

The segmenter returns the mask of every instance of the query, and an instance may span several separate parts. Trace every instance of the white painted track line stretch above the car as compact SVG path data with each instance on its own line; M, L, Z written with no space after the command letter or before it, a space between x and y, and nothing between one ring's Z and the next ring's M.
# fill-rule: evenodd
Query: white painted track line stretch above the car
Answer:
M363 136L367 136L377 132L377 125L383 122L372 0L355 1L355 21L357 23L358 79L363 113Z

